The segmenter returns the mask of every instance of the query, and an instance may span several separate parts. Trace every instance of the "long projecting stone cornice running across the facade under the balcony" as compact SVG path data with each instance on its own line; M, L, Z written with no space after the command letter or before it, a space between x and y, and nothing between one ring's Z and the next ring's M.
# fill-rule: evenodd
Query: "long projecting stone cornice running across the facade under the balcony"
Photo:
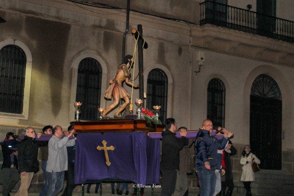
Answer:
M125 10L76 5L67 0L3 0L0 11L119 34L125 30ZM108 22L114 25L107 25ZM294 67L294 44L291 43L216 25L199 26L137 12L130 12L129 22L130 28L143 25L146 40Z

